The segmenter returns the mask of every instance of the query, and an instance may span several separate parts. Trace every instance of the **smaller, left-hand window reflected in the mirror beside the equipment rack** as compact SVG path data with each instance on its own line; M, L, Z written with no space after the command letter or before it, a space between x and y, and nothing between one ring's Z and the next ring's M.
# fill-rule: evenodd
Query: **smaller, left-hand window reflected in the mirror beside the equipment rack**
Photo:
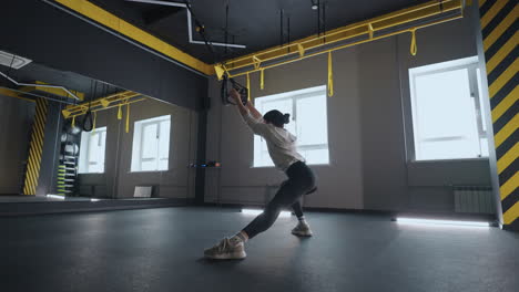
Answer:
M81 133L79 160L80 174L104 173L104 150L106 148L106 127Z

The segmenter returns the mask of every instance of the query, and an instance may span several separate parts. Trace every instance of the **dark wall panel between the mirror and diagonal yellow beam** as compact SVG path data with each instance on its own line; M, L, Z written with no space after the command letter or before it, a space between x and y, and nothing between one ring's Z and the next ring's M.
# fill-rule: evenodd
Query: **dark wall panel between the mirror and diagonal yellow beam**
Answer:
M0 19L4 28L0 31L0 50L49 67L201 109L207 92L205 76L41 0L4 1L2 11L6 13Z

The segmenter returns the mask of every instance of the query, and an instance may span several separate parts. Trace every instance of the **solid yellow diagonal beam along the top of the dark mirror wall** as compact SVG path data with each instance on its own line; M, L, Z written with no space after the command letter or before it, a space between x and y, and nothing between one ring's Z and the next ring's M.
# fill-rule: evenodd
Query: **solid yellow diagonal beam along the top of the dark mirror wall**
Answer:
M206 75L214 73L212 65L206 64L196 58L184 53L177 48L164 42L144 30L131 24L130 22L118 18L106 10L91 3L86 0L55 0L55 2L115 31L122 35L138 41L175 61L179 61Z

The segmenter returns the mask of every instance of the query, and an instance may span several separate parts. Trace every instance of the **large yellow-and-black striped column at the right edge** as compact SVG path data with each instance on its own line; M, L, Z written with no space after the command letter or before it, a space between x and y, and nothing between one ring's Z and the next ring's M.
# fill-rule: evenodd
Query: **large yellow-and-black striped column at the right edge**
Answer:
M479 0L505 226L519 226L518 0Z

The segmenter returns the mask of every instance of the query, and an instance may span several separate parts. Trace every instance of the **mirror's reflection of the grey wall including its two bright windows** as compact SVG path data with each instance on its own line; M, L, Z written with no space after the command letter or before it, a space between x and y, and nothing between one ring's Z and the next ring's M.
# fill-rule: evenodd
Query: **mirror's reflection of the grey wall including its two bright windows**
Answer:
M72 159L79 161L78 196L194 197L194 174L187 166L196 158L197 114L150 97L139 98L94 112L94 129L77 134L79 154Z

